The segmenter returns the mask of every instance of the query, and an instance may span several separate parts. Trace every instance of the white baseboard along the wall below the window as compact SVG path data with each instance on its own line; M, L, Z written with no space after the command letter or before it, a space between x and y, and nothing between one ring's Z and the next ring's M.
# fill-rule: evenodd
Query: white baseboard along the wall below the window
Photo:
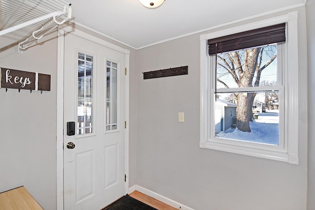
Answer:
M171 207L174 207L174 208L176 208L178 210L194 210L194 209L192 209L192 208L190 208L188 206L180 204L180 203L178 203L176 201L173 201L173 200L171 200L171 199L169 199L169 198L167 198L167 197L165 197L163 195L160 195L160 194L158 194L156 192L153 192L153 191L151 191L149 189L146 189L144 187L141 187L139 185L133 185L132 187L130 187L129 190L128 190L128 193L131 193L131 192L133 192L135 190L137 190L137 191L139 191L139 192L141 192L143 194L146 194L146 195L148 195L148 196L150 196L152 198L155 198L158 201L161 201L161 202L163 202L163 203L165 203L167 205L170 205Z

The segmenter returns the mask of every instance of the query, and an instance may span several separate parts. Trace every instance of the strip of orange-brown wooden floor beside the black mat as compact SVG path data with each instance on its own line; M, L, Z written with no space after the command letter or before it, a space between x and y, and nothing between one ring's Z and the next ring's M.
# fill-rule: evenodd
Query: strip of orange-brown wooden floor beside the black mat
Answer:
M139 191L133 191L129 194L132 198L137 199L138 201L141 201L145 204L148 204L149 206L152 206L158 210L177 210L174 207L171 207L167 204L164 204L163 202L158 201L157 199L154 199L148 195L145 195Z

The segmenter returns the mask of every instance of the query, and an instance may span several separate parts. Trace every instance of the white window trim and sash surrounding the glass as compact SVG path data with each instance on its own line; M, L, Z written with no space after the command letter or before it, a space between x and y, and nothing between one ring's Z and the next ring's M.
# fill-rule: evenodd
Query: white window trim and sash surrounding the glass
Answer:
M291 164L298 164L298 30L297 12L253 22L239 27L220 30L200 35L200 147L244 154L254 157L278 160ZM233 33L253 30L280 23L287 23L287 59L285 62L287 84L285 87L284 110L284 150L270 150L257 147L257 144L240 141L213 141L210 139L210 88L207 40ZM251 145L255 145L251 146Z

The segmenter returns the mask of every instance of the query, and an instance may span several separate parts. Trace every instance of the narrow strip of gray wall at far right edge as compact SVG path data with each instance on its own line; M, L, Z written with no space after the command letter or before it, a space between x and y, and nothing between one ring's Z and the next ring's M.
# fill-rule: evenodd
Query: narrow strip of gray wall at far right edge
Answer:
M315 210L315 1L306 3L307 43L308 43L308 210Z

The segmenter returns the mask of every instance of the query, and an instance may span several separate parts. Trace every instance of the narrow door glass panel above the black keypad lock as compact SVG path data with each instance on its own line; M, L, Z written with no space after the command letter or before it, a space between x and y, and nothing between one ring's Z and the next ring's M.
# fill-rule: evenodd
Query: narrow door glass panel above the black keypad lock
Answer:
M78 53L78 135L93 132L93 56Z

